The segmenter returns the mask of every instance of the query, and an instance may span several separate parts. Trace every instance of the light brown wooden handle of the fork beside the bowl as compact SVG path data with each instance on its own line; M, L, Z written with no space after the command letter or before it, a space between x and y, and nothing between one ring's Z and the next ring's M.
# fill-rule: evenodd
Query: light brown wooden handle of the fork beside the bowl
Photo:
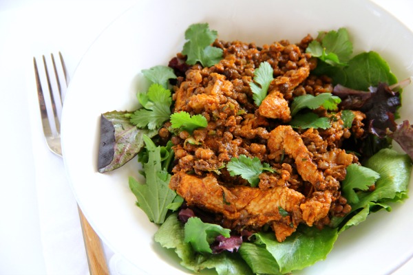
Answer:
M83 239L85 241L87 263L89 263L89 274L109 275L105 253L103 253L102 243L100 243L99 236L94 232L92 226L90 226L83 215L81 208L78 208L78 211L79 217L81 218Z

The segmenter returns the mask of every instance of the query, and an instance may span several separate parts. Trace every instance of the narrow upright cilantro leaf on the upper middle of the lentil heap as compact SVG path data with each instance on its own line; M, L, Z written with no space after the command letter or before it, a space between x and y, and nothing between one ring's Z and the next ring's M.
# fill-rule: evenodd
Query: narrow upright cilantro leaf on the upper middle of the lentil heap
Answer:
M253 91L253 99L257 106L261 105L262 100L268 94L268 87L270 87L271 81L273 81L273 67L270 63L264 61L260 64L254 72L254 82L251 82L249 85L251 91ZM256 84L258 83L258 85Z

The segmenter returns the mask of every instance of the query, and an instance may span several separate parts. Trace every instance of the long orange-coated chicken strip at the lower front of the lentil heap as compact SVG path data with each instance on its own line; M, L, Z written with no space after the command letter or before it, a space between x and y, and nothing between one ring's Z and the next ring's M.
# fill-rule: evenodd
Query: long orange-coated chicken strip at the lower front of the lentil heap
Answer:
M257 229L266 223L285 223L288 220L288 226L293 225L289 231L293 233L298 223L292 223L290 217L279 214L279 208L295 213L297 206L305 200L300 192L286 186L266 190L248 186L225 187L211 174L201 178L176 173L171 177L169 187L176 190L188 206L223 214L229 228ZM286 237L285 234L282 236L280 240Z

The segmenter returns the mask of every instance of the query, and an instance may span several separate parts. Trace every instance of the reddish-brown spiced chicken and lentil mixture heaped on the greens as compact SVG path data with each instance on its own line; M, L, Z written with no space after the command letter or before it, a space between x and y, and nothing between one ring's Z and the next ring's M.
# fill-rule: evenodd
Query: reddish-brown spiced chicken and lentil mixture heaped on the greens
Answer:
M351 135L364 135L365 115L354 111L348 129L341 111L320 107L315 113L329 118L329 129L286 125L295 96L332 91L330 78L311 74L317 61L305 52L312 40L306 36L297 45L279 41L262 47L215 41L213 45L223 50L218 64L178 68L173 111L202 114L208 122L193 133L167 133L170 122L160 131L162 139L172 140L175 152L169 187L189 208L240 232L269 226L278 241L293 234L299 223L322 228L332 216L350 211L339 181L358 159L340 147ZM178 54L178 58L184 57ZM250 83L264 61L273 67L274 79L258 107ZM240 155L257 157L277 172L262 173L257 187L251 187L226 170L226 164Z

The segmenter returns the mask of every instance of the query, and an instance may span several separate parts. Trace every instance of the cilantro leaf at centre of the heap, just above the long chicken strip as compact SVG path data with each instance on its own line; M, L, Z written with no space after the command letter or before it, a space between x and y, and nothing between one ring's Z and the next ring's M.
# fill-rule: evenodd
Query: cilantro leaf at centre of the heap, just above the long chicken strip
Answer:
M251 186L255 187L260 182L258 176L264 171L275 172L269 164L262 164L258 157L247 157L246 155L240 155L240 157L233 157L226 164L226 168L229 170L229 175L240 175L243 179L246 179Z

